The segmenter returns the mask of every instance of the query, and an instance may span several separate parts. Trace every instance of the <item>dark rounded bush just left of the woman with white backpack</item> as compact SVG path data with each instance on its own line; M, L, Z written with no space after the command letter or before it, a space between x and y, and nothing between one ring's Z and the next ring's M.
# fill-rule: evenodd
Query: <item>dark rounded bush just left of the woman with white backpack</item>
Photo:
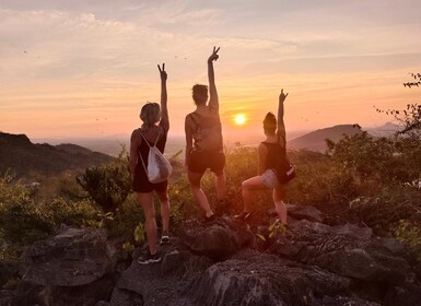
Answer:
M78 183L104 212L115 212L130 192L130 173L124 152L115 161L86 168Z

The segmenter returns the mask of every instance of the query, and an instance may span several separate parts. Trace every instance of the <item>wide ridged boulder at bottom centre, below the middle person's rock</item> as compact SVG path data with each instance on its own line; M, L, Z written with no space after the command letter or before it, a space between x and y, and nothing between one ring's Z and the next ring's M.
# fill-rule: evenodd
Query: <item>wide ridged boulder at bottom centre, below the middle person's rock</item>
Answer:
M349 284L348 278L317 267L248 250L211 266L185 293L195 305L324 305L320 297L344 305L339 297L354 301Z

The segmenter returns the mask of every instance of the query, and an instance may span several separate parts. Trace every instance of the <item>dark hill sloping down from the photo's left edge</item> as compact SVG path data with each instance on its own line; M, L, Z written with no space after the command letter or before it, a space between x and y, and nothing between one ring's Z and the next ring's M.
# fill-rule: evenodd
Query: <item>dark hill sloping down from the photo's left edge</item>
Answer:
M10 169L17 177L30 173L44 175L85 169L113 160L75 144L34 144L25 134L0 132L0 174Z

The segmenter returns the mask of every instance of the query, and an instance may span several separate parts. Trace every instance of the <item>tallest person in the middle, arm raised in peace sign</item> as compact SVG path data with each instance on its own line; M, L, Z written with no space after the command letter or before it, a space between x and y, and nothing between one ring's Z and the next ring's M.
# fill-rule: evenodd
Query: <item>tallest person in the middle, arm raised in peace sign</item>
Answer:
M186 168L188 180L196 201L203 209L206 220L214 217L207 196L201 189L200 181L204 172L210 168L215 174L217 195L219 201L225 193L225 155L223 153L222 127L219 114L219 98L214 79L213 61L218 60L220 48L213 47L208 59L208 86L196 84L192 86L192 99L196 110L186 116Z

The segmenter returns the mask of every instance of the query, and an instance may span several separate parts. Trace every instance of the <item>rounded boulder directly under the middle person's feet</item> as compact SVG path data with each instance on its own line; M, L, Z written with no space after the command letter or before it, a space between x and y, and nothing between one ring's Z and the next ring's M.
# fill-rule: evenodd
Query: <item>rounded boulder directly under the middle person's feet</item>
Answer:
M254 234L243 222L217 217L211 223L186 223L180 239L192 252L219 261L253 245Z

